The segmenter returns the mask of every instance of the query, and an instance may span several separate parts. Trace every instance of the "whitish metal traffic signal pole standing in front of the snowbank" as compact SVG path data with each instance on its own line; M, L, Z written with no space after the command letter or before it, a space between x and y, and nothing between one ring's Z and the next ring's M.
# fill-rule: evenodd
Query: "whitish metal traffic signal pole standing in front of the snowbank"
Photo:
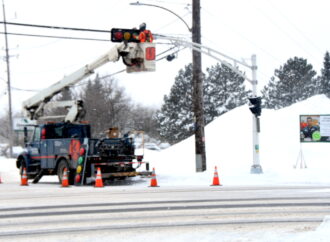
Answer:
M252 70L252 96L257 97L257 57L252 55L251 57L251 70ZM253 141L253 165L251 167L252 174L262 173L262 168L260 165L259 158L259 132L260 132L260 120L259 117L255 114L252 114L252 141Z

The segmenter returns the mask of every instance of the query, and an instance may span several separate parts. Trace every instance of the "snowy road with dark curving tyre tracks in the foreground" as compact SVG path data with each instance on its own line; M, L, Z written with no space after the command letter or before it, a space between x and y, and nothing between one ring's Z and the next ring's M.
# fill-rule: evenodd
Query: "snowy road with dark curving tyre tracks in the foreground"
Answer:
M0 188L0 240L125 240L196 230L296 232L313 230L330 215L330 187Z

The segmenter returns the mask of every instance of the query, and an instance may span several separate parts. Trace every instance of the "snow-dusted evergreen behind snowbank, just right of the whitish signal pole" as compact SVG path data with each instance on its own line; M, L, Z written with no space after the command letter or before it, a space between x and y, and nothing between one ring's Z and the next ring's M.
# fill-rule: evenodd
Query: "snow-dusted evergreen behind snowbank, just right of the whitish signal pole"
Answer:
M316 72L306 59L294 57L275 70L275 77L261 91L265 106L282 108L317 93ZM275 79L276 78L276 79Z

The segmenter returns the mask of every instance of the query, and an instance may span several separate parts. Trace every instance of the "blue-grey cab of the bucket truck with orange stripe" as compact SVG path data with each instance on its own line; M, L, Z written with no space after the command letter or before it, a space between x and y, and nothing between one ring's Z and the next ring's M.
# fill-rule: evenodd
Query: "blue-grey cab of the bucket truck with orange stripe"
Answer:
M79 151L77 144L89 139L90 133L88 124L61 122L36 125L25 151L18 156L16 166L21 172L26 168L30 179L36 178L38 174L57 174L58 169L64 167L73 171L74 152Z

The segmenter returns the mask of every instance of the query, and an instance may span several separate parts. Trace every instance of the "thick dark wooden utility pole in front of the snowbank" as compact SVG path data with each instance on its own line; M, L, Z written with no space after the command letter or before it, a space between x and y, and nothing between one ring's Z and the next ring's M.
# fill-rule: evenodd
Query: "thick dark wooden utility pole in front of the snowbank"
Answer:
M201 44L200 0L192 0L192 41ZM196 172L206 170L202 55L193 50L193 105L195 118Z

